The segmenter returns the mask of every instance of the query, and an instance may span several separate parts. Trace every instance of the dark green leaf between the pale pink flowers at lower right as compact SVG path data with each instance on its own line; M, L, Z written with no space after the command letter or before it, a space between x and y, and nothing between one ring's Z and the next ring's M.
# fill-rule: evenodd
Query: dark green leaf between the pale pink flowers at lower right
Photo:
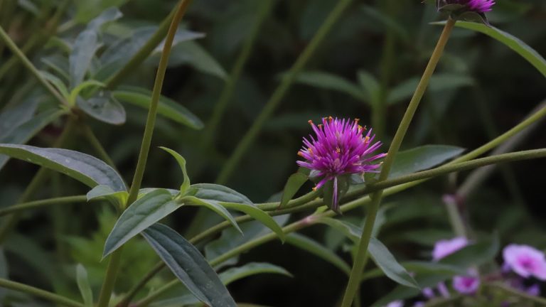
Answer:
M475 244L459 249L453 254L440 259L439 263L449 264L468 268L470 266L479 266L491 261L496 257L500 249L500 242L497 235L491 239L483 240Z

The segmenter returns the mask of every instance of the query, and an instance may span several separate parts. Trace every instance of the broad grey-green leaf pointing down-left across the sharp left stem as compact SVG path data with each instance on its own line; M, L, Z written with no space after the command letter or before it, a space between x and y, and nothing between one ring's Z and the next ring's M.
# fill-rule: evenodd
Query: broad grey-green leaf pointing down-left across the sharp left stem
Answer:
M139 198L119 217L105 242L104 259L141 231L154 225L159 220L183 205L173 200L168 190L158 189Z

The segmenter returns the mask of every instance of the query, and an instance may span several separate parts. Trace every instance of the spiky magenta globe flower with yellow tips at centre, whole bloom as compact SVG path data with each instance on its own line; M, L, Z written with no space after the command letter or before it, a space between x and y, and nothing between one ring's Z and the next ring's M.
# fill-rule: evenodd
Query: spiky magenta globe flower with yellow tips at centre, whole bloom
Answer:
M378 173L380 163L374 163L386 154L373 154L381 142L373 143L375 134L372 129L364 135L365 127L358 124L358 119L338 119L324 117L322 124L309 121L316 137L309 134L304 138L304 146L298 155L305 161L297 161L299 166L314 171L314 177L320 178L314 190L318 190L328 181L333 182L332 206L338 209L338 181L341 176L350 174Z

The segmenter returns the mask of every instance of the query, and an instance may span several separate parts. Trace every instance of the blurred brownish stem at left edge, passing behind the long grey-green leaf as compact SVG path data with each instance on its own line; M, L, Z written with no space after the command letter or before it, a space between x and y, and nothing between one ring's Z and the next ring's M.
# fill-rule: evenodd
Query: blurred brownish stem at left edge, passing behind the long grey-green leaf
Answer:
M53 147L61 147L63 144L66 143L68 140L68 137L70 134L72 134L73 129L76 124L76 119L74 117L69 117L68 122L63 129L63 132L60 134L57 141L55 141L55 144L53 144ZM48 178L48 172L49 170L47 168L40 168L40 170L36 173L36 175L32 178L31 182L28 183L26 186L25 191L23 192L23 195L18 199L18 203L26 202L29 198L36 193L38 188L41 188L43 182ZM8 236L9 232L15 225L17 224L19 218L21 217L21 213L17 212L14 215L10 215L6 222L2 224L0 227L0 244L4 242L6 237Z

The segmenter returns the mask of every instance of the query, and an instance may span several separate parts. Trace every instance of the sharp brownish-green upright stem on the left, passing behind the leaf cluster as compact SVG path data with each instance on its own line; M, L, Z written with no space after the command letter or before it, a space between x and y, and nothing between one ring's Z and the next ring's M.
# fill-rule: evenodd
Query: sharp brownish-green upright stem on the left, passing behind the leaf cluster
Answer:
M181 1L173 15L171 25L168 28L168 33L165 38L165 44L163 51L161 52L161 59L159 60L159 66L156 73L156 81L154 82L154 90L151 94L150 109L148 117L146 118L146 126L144 128L144 136L142 138L142 144L139 152L139 160L137 161L137 168L134 172L131 188L129 189L129 197L127 198L127 205L134 203L137 200L139 189L144 177L144 170L146 168L146 161L148 160L148 154L151 146L151 137L154 134L154 126L156 123L157 107L159 104L159 97L161 97L161 88L163 87L163 81L165 78L165 72L168 65L168 57L171 54L171 48L174 41L178 24L180 23L184 14L188 9L191 0ZM109 259L105 282L102 284L100 291L98 307L107 307L114 289L115 280L117 277L117 271L119 264L121 263L122 248L117 249L112 257Z

